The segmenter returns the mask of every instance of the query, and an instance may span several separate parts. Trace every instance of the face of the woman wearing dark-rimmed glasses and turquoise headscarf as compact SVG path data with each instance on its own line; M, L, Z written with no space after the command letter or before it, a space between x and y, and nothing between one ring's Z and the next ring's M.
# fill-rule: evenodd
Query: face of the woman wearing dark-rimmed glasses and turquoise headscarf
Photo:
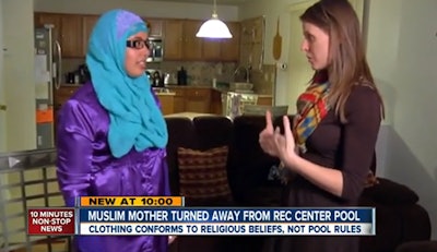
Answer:
M140 32L128 37L125 68L129 76L138 77L144 74L145 60L150 55L147 33Z

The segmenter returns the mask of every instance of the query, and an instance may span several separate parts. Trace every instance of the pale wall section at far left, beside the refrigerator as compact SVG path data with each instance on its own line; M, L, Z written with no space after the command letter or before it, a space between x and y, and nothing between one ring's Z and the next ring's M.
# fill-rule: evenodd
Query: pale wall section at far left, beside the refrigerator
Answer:
M33 0L2 4L7 148L31 149L36 147L36 130L29 127L35 125Z

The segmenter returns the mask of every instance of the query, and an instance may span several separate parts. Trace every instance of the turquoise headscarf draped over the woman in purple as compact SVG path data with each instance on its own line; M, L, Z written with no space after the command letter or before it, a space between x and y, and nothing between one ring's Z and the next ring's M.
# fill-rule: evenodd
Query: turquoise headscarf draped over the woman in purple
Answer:
M149 77L131 77L125 68L126 40L139 32L147 32L141 17L113 10L99 17L88 41L86 64L98 101L109 113L108 143L115 157L132 147L164 148L168 140Z

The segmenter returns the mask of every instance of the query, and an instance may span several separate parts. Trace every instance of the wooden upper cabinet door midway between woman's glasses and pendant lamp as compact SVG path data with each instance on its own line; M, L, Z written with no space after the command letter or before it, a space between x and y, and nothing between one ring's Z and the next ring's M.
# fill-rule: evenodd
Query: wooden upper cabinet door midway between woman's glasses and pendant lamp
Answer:
M164 34L164 59L182 58L184 23L179 20L166 20Z

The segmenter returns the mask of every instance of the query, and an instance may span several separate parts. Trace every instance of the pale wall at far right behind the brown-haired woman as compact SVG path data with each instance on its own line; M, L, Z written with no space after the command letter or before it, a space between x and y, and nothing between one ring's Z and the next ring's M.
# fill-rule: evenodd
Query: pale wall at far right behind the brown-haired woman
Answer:
M380 176L415 190L437 239L437 1L370 0L367 55L387 108ZM433 115L433 116L432 116Z

